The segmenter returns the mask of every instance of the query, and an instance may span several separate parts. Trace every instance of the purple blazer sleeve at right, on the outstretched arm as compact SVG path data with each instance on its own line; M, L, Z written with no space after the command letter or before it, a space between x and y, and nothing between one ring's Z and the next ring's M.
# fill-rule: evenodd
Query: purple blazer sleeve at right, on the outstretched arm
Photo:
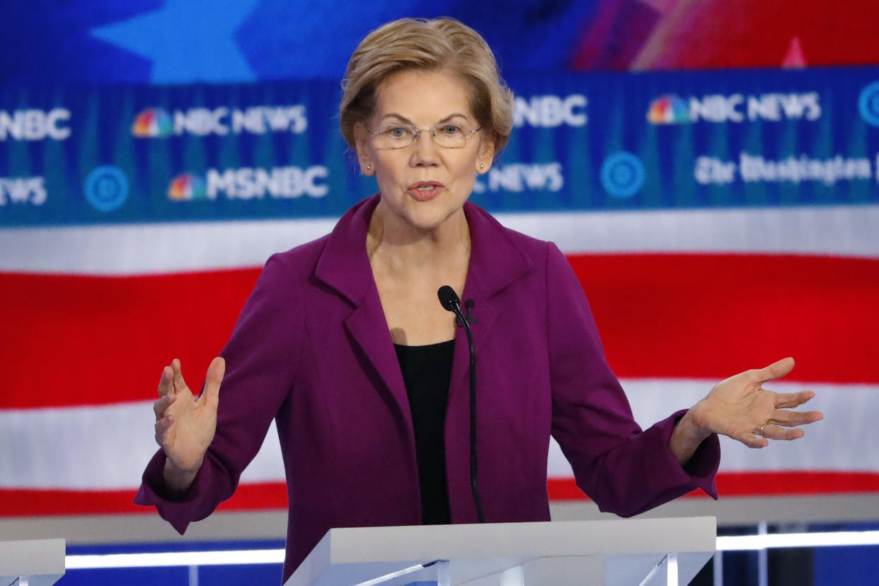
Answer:
M641 430L607 360L583 289L570 264L548 244L547 323L552 434L577 485L622 517L636 515L701 488L717 498L716 435L681 466L668 447L685 411Z

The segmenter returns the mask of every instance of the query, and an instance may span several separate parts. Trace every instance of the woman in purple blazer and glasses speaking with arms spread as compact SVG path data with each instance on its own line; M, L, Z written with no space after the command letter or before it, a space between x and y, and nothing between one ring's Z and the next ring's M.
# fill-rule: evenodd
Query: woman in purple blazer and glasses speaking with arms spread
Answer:
M403 19L370 33L345 74L341 126L379 193L269 259L199 399L178 360L163 371L162 449L136 502L178 531L231 496L272 418L285 580L331 527L476 521L469 348L437 301L443 285L470 307L489 522L548 520L550 434L599 507L633 515L694 488L716 496L717 433L762 447L821 417L781 409L810 393L760 387L788 358L638 428L562 253L467 203L512 129L511 93L467 26Z

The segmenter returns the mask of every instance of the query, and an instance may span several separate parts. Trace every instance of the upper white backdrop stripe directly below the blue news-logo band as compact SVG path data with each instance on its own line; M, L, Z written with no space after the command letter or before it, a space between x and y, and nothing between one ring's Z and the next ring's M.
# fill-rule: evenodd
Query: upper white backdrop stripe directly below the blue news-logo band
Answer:
M565 252L759 252L879 257L879 206L499 213ZM0 271L132 275L261 266L335 219L0 230Z

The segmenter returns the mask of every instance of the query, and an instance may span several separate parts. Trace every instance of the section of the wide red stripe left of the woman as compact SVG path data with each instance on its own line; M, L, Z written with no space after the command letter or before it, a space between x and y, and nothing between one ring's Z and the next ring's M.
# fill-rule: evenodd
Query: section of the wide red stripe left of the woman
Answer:
M151 400L172 358L200 387L259 272L0 274L0 409Z

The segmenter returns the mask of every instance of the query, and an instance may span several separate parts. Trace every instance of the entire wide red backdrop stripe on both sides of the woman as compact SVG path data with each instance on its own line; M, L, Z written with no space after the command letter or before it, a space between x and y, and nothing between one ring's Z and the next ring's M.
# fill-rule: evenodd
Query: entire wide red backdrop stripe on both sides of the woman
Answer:
M789 380L879 382L879 259L570 261L621 377L720 379L794 356ZM258 273L0 274L0 409L148 400L174 357L200 385Z

